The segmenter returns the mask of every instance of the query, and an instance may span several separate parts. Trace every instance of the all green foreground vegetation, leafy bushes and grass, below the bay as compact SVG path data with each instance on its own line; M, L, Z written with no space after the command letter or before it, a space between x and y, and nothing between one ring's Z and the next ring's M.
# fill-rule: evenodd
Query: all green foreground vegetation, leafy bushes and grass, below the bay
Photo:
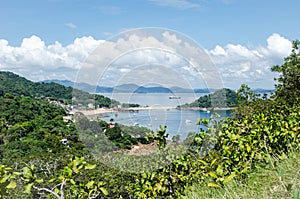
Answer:
M70 140L74 142L75 147L64 146L60 141L60 130L72 129L73 124L63 124L59 110L55 111L57 114L47 112L49 110L45 108L48 106L46 104L44 108L32 106L33 108L27 110L35 110L36 107L37 113L46 113L43 117L52 121L52 126L45 125L48 123L40 118L40 114L29 114L25 118L23 113L19 114L20 118L8 113L2 115L1 119L5 121L2 124L5 125L1 126L1 147L4 147L1 154L5 158L0 165L1 197L180 198L194 195L200 198L218 198L223 194L228 198L238 198L261 193L265 198L297 198L300 154L298 45L297 41L293 43L293 51L282 66L272 67L273 71L280 73L272 98L258 98L248 86L242 85L237 96L240 106L233 112L232 118L221 121L214 117L200 119L198 123L202 129L195 133L188 144L175 149L166 141L166 131L162 127L157 133L149 135L158 145L157 153L146 157L111 152L109 157L102 156L102 147L94 145L93 142L87 142L90 146L82 145L81 140L77 139L82 128L67 130L66 135L74 138ZM12 100L15 104L11 106L12 111L22 107L22 103L16 99L29 102L32 100L19 96L11 97L8 94L4 94L2 98L3 102ZM27 106L31 102L24 103ZM26 115L25 112L24 114ZM27 129L28 125L24 123L27 117L36 122L29 125L30 128L23 134L23 130L19 131L18 126ZM11 120L18 122L12 124ZM7 121L10 121L13 127L8 127ZM63 126L57 129L57 125ZM88 128L83 129L89 130L87 133L95 138L99 135L104 138L115 135L98 131L102 128L101 125L103 124L100 122L87 123L84 126ZM12 128L17 130L11 130ZM120 135L119 131L115 132ZM124 135L121 132L121 136ZM55 139L47 140L50 136ZM28 137L30 140L26 141ZM43 148L44 144L38 144L38 150L36 147L34 150L28 150L31 145L24 145L13 161L9 159L9 155L5 155L6 149L10 149L10 155L18 149L19 145L14 143L38 143L40 139L45 140L47 147ZM50 141L54 143L49 145ZM10 144L12 147L7 148ZM54 145L60 150L51 151L56 149L52 147ZM92 151L94 155L88 149L95 149ZM24 150L29 152L21 153ZM38 153L34 155L33 151ZM120 157L122 162L118 162ZM135 170L128 169L140 159L140 162L145 164L135 165ZM107 164L107 160L111 161L111 164ZM150 164L154 169L149 169ZM290 174L292 170L297 172ZM268 179L262 179L261 176L264 175ZM272 187L269 193L264 191L262 183ZM244 190L246 192L243 192ZM233 193L235 191L236 194Z

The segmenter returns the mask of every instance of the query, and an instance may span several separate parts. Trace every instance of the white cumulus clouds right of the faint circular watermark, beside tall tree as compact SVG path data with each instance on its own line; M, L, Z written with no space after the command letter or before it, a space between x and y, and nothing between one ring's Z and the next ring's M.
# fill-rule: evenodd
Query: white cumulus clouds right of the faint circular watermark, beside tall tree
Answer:
M270 67L283 62L291 52L292 43L277 33L268 37L266 43L266 46L255 48L239 44L217 45L207 52L222 74L225 85L236 88L247 83L252 87L272 88L275 74Z

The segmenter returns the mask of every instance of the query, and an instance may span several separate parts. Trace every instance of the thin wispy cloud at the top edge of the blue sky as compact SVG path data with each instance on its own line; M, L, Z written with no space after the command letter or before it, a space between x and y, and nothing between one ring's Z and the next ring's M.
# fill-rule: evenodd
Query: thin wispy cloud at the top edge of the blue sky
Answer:
M183 10L198 8L200 6L199 4L193 3L188 0L149 0L149 1L159 6L174 7Z

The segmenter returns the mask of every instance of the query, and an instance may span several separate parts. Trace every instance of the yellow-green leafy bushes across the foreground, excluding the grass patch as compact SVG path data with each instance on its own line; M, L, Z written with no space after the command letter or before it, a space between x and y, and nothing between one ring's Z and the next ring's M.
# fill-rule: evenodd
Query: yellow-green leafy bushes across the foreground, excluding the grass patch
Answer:
M205 187L203 189L210 192L209 196L215 197L219 192L226 192L230 183L239 182L242 186L248 186L253 174L270 168L271 164L279 165L283 160L288 161L286 158L291 156L290 151L298 157L300 148L298 45L297 41L293 43L293 51L282 66L272 68L280 73L272 98L258 98L247 85L242 85L236 97L241 105L234 110L232 118L223 121L214 117L199 120L202 128L195 133L188 145L176 145L172 148L173 146L166 142L168 135L165 134L165 128L161 128L156 134L149 136L158 144L157 153L151 157L131 157L115 152L110 153L108 158L91 156L88 152L80 152L82 149L78 143L76 151L64 153L63 156L60 151L41 151L40 158L29 163L24 163L28 159L23 159L25 157L22 156L14 162L6 159L6 165L0 164L1 196L46 198L51 195L60 199L180 198L185 194L189 196L189 190L193 186L196 189ZM2 98L14 100L22 97L12 98L5 95ZM18 109L11 108L12 111ZM5 120L11 121L12 118L6 116ZM13 120L24 121L18 120L18 117ZM83 125L89 127L88 129L96 129L91 132L94 137L97 137L95 136L97 129L105 125L96 123ZM37 126L39 125L43 126L43 122ZM2 127L5 139L1 145L4 146L10 142L14 143L14 140L8 140L11 134L15 133L17 136L19 133L18 131L8 133L6 128ZM34 132L34 129L29 130L28 135ZM51 133L51 129L49 130ZM56 131L53 134L59 136ZM72 135L71 132L69 134ZM120 135L118 132L116 134ZM21 138L19 140L22 141ZM182 149L184 152L179 153ZM108 161L111 165L107 164ZM167 164L157 164L156 169L149 169L159 161ZM129 172L128 169L134 165L139 170ZM297 165L294 169L299 170ZM283 175L283 172L277 170L276 174ZM284 197L297 196L298 184L294 184L293 181L284 184L285 181L280 179L281 186L285 189ZM272 193L267 197L273 198Z

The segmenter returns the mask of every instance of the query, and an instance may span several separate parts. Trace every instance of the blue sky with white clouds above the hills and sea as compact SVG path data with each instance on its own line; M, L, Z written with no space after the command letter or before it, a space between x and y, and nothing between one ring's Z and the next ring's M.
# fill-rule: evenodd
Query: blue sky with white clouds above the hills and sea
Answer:
M252 88L273 88L276 74L270 72L270 67L282 64L283 58L291 52L291 41L300 39L299 7L298 0L1 0L0 70L12 71L33 81L78 81L78 74L85 71L82 68L99 46L110 44L111 53L118 54L120 52L113 48L126 46L120 44L120 35L125 36L122 32L156 27L162 30L162 35L168 34L170 38L183 35L197 43L201 52L210 58L215 73L220 76L218 81L224 87L236 89L246 83ZM148 35L148 39L150 37ZM165 42L154 38L156 47ZM133 41L148 40L141 36ZM148 44L144 42L142 47ZM111 82L116 82L113 78L129 74L129 69L132 72L133 67L137 71L141 64L152 65L153 70L157 63L169 64L173 72L181 74L181 69L187 68L192 60L183 63L182 59L173 59L172 56L180 55L176 49L171 50L175 54L145 50L136 55L127 53L127 59L120 58L107 70L119 74L110 77ZM148 61L133 64L137 56ZM108 58L114 57L109 55ZM131 63L122 61L128 58ZM174 60L179 61L174 63ZM139 67L136 74L149 73L149 67ZM186 71L190 73L184 78L195 78L193 71ZM160 73L168 72L162 69ZM98 75L111 84L106 78L111 74L105 74L105 77ZM201 74L199 82L206 81L204 76L210 75ZM159 75L159 70L152 75ZM133 75L126 76L127 83L130 83L129 77ZM160 81L152 78L152 83L155 80ZM97 83L95 81L87 82ZM188 83L192 87L205 85L197 81Z

